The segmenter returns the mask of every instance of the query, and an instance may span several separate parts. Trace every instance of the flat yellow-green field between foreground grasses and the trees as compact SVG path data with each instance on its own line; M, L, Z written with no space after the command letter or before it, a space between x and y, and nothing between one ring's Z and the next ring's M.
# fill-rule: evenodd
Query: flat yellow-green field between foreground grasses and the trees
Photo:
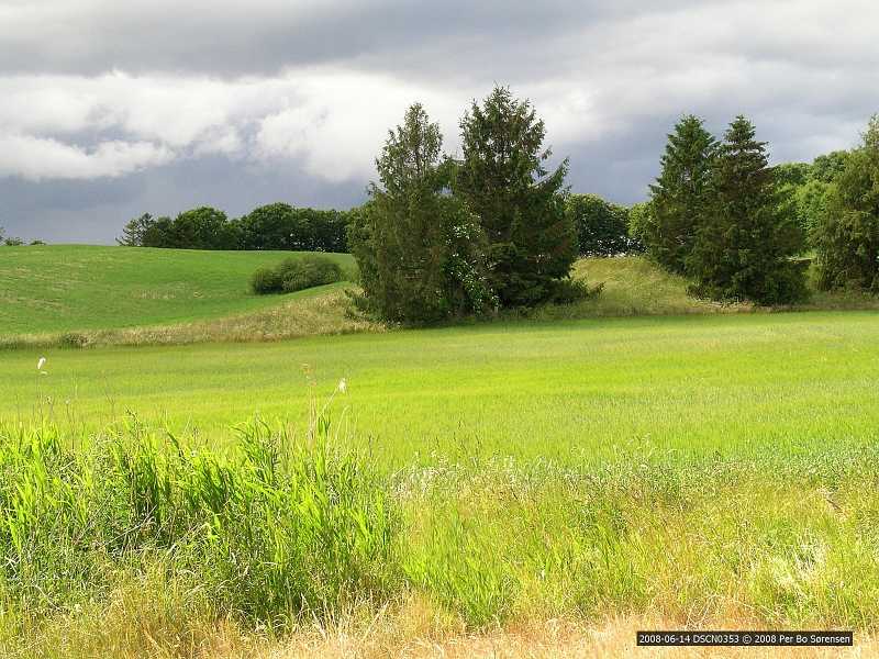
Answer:
M36 365L46 358L43 370ZM307 376L302 365L308 364ZM309 386L310 378L313 386ZM385 463L415 455L566 461L614 451L811 453L879 434L874 311L481 324L204 344L0 351L0 418L70 432L126 411L225 440L308 399Z

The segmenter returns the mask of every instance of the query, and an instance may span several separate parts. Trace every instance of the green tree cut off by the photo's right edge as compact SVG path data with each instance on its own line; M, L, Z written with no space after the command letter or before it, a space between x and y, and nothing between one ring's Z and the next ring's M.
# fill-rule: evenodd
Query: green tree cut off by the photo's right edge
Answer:
M879 118L846 158L816 235L817 283L879 293Z

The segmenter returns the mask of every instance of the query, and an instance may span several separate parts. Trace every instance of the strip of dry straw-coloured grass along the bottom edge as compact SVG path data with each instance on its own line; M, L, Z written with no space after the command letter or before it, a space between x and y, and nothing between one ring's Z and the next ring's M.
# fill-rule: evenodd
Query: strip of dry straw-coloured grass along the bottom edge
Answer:
M879 657L879 637L855 634L852 648L814 647L638 647L635 636L644 629L682 629L674 621L656 616L625 615L598 623L539 619L481 634L468 634L441 619L430 607L411 604L403 611L380 614L371 621L356 619L326 627L302 628L282 640L265 634L245 634L232 622L193 630L186 639L156 628L146 618L129 612L111 614L100 629L74 626L66 632L65 651L44 657L114 657L120 659L614 659L727 658L819 659ZM135 613L134 615L131 615ZM148 617L148 616L147 616ZM356 617L356 616L355 616ZM165 621L167 623L167 621ZM192 622L192 621L190 621ZM703 621L691 629L760 629L765 625L747 618ZM782 626L783 628L783 626ZM74 637L69 636L70 634ZM76 637L78 636L78 640ZM44 648L45 649L45 648ZM22 656L22 655L18 655ZM37 656L37 655L34 655Z

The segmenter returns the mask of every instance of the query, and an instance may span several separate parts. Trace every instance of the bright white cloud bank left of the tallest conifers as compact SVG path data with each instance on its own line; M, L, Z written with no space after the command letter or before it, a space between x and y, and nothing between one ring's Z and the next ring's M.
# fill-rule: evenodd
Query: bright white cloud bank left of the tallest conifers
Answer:
M31 179L124 176L222 154L298 160L309 174L338 182L371 175L388 129L411 103L432 100L455 116L436 92L388 76L327 69L231 81L118 71L27 76L0 79L0 144L9 145L0 175Z

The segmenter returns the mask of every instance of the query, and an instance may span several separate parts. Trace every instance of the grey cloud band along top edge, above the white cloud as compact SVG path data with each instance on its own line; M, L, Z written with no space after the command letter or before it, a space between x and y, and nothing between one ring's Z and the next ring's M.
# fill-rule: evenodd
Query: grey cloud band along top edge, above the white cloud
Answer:
M585 23L637 12L635 2L5 2L0 69L96 75L176 71L275 75L288 66L364 57L413 59L527 51ZM687 4L668 3L668 7ZM457 46L444 49L442 44ZM485 56L486 53L482 53Z

